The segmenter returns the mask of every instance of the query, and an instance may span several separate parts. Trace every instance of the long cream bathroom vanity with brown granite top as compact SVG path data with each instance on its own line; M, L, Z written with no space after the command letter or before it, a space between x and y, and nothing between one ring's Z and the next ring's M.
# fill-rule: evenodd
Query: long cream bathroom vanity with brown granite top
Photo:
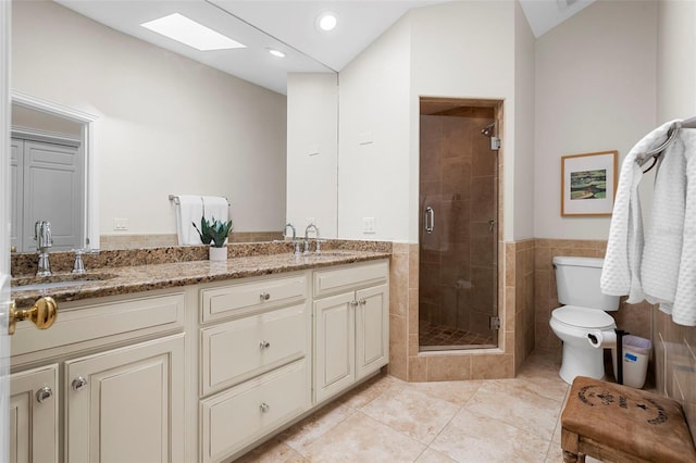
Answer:
M53 326L11 338L12 461L239 456L388 362L388 256L115 267L52 290Z

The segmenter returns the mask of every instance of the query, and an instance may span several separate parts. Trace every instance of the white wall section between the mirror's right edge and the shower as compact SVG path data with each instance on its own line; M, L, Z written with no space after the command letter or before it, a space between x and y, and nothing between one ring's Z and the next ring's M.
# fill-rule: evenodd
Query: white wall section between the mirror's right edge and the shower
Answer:
M339 74L340 238L410 238L409 43L403 17ZM375 218L374 234L363 234L363 217Z

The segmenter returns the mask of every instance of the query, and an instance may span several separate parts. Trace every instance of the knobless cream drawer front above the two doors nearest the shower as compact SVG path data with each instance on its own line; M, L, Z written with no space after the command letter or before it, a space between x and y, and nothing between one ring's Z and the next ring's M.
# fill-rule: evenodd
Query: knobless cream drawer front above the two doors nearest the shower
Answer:
M388 261L314 272L314 296L327 296L357 287L380 285L389 277Z

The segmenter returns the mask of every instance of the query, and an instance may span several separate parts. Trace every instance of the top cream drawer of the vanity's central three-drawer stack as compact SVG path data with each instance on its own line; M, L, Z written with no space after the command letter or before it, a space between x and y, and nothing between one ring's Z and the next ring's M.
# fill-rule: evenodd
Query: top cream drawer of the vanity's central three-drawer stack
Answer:
M306 298L304 274L208 288L201 290L201 318L203 322L210 322L231 316L244 316L259 310L302 301Z

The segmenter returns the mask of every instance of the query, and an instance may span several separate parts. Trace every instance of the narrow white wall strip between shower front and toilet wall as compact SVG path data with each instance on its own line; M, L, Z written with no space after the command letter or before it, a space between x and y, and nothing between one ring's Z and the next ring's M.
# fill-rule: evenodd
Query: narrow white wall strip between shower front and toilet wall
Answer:
M514 155L506 158L505 190L513 190L513 240L534 238L534 34L518 2L514 9ZM506 129L507 133L507 129ZM510 200L507 195L506 201ZM506 209L509 203L504 204Z

